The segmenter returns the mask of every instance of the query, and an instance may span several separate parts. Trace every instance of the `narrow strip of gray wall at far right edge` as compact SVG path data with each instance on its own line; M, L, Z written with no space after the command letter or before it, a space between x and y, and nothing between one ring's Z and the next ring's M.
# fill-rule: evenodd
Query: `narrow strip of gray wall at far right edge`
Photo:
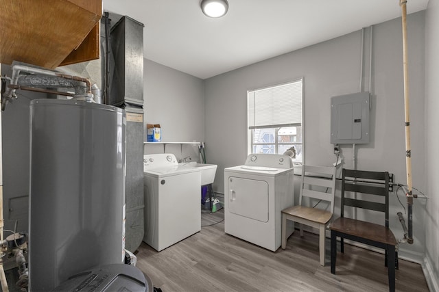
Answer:
M425 269L430 275L431 291L439 291L439 0L429 0L425 29L425 156L426 194L429 196L425 214Z

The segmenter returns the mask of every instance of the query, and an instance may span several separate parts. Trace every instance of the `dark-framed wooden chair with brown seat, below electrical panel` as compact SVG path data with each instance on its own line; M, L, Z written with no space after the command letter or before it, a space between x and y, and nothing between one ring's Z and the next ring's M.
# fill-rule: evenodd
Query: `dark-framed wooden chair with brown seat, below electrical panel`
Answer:
M348 192L351 192L351 196L346 196ZM354 193L356 193L355 196L353 195ZM345 207L382 212L384 213L385 222L383 225L380 225L348 218L346 217ZM376 212L372 213L374 213L374 216L377 215ZM389 290L395 290L395 265L398 265L398 254L395 252L396 239L389 229L388 172L343 169L341 217L334 220L329 229L331 230L332 274L335 274L337 237L341 239L341 252L344 252L344 238L350 239L385 250L385 266L388 267Z

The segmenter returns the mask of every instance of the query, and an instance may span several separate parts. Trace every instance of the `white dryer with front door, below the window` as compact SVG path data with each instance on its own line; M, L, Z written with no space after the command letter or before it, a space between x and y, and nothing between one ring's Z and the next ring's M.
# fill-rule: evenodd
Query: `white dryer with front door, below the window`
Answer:
M244 165L224 169L224 231L276 251L281 211L294 205L294 168L287 155L252 154ZM294 226L288 222L287 237Z

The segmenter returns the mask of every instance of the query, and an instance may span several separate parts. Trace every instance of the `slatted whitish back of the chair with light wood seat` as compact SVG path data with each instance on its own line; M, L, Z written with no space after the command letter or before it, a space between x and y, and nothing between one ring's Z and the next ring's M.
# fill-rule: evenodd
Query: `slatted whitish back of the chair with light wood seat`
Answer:
M302 197L325 200L334 213L335 171L335 167L302 165L299 204Z

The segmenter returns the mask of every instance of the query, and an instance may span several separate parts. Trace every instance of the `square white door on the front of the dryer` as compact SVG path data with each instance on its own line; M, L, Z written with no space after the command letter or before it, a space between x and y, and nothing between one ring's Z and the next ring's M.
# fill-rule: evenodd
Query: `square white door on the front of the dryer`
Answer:
M249 178L228 178L230 213L268 222L268 183Z

